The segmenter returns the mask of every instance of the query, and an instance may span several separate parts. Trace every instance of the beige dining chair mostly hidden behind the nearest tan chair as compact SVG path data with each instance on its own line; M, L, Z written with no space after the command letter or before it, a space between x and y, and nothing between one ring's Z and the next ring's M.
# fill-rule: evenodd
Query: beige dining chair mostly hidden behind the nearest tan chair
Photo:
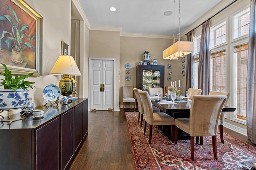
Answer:
M215 96L215 95L226 95L227 96L227 100L226 100L224 106L228 105L228 100L229 100L229 97L230 97L230 93L228 93L228 92L216 92L216 91L210 91L209 92L209 96ZM220 141L221 141L221 143L224 143L224 138L223 138L224 115L225 115L225 113L221 112L220 113L220 119L218 121L218 126L219 126L219 130L220 130Z

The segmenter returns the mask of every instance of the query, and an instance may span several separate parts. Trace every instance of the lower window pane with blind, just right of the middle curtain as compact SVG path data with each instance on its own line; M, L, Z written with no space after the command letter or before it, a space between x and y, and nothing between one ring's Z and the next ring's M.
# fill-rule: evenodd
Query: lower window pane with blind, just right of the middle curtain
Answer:
M211 54L210 60L212 91L226 92L226 50Z

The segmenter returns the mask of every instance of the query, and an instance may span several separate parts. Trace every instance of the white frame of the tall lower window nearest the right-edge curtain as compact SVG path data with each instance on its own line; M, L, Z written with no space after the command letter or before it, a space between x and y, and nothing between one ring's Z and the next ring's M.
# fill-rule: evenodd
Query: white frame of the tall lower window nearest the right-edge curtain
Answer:
M230 44L230 82L235 82L236 78L234 77L236 74L234 74L234 47L238 46L238 45L242 45L242 44L246 44L248 43L248 39L247 40L242 40L236 43L232 43ZM236 88L235 88L235 84L234 83L230 83L230 102L232 103L232 107L234 107L234 105L236 104L235 100L235 96L234 94L236 94ZM236 118L236 111L234 112L230 112L230 120L231 121L235 121L237 123L241 123L243 125L246 125L246 120L243 119L238 119Z

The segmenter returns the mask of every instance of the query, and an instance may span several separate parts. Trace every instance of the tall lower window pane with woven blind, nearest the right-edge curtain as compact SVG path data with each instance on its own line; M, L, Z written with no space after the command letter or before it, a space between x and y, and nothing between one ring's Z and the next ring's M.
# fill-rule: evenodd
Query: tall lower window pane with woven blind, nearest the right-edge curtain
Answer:
M246 120L246 75L248 43L234 47L234 104L236 118Z

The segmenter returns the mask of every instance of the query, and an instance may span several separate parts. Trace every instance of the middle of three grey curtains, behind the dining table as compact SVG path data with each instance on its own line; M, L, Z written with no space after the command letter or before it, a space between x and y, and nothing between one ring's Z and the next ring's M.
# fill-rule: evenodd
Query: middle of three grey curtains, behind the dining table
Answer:
M202 24L200 53L198 63L198 89L202 89L202 95L210 92L210 19Z

